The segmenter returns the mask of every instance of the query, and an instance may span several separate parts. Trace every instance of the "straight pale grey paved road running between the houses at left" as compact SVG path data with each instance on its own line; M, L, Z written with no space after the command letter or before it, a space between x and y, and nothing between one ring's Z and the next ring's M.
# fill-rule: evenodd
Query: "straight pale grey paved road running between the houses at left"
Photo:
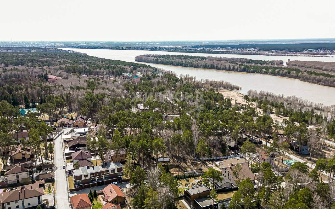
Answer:
M56 208L58 209L71 209L68 196L68 186L66 181L66 171L63 169L65 165L64 156L64 145L62 134L60 134L55 140L55 182L56 182Z

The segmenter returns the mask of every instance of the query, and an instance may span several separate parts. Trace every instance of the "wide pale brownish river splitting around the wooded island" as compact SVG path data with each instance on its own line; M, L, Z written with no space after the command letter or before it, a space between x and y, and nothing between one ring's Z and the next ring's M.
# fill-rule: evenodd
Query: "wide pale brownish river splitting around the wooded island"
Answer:
M302 56L261 56L261 55L223 55L223 54L202 54L202 53L177 53L166 51L146 51L146 50L115 50L115 49L84 49L84 48L62 48L66 50L75 50L87 55L106 58L112 60L122 60L135 62L135 57L144 54L160 55L191 55L191 56L217 56L217 57L235 57L248 58L253 60L283 60L284 63L290 60L302 61L323 61L335 62L334 57L302 57ZM297 96L303 99L323 103L325 105L335 104L335 88L321 86L303 82L297 79L290 79L278 76L269 76L253 73L239 73L230 71L209 70L201 68L187 68L178 66L159 65L143 63L153 67L162 68L176 72L177 75L189 74L197 79L223 80L235 85L239 85L242 94L247 94L248 90L263 90L275 94L284 94L285 96Z

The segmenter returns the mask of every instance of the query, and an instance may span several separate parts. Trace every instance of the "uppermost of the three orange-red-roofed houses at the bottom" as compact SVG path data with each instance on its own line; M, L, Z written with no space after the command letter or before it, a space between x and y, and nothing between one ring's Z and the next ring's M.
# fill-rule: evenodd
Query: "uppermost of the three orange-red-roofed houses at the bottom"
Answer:
M109 184L103 190L103 199L106 203L113 204L124 204L125 195L121 191L120 187L116 185Z

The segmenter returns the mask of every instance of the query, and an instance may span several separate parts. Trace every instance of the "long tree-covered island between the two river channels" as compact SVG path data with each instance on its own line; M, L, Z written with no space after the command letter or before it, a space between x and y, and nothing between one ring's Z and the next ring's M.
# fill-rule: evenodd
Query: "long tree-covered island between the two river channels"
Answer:
M335 87L335 75L313 68L282 66L282 61L261 61L242 58L197 57L184 55L141 55L137 62L156 63L192 68L259 73L296 78L323 86Z

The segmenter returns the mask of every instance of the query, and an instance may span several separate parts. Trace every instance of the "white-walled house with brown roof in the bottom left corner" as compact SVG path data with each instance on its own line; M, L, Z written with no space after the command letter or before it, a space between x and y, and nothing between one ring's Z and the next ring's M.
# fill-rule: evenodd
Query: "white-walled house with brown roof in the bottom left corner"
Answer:
M36 208L42 205L42 195L44 195L44 181L37 181L15 189L0 193L1 208L23 209Z

